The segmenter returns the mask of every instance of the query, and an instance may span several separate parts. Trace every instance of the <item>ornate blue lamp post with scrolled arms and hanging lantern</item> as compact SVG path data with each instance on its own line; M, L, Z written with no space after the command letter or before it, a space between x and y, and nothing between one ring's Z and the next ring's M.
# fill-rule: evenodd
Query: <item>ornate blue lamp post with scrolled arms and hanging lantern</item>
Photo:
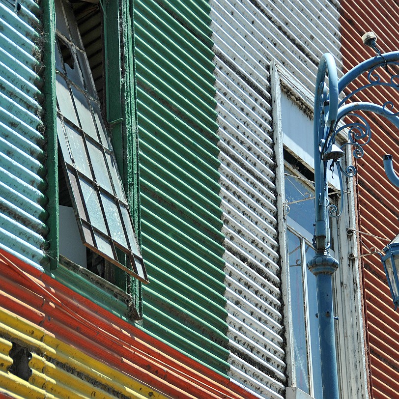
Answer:
M371 140L371 127L365 114L371 112L383 116L399 128L399 113L392 111L393 103L390 101L383 104L370 102L346 104L354 94L371 87L387 87L399 95L399 75L391 72L394 65L399 67L399 52L381 54L376 47L376 36L373 32L366 33L363 41L365 45L373 48L377 55L351 69L340 80L337 77L334 57L328 53L321 57L314 94L315 255L308 262L308 268L316 277L323 399L339 398L332 289L332 276L338 269L339 262L329 254L329 216L338 217L342 212L342 174L354 177L357 173L353 165L343 169L340 159L344 155L345 146L353 148L354 158L363 156L363 146ZM349 94L344 94L343 90L361 75L365 75L367 83ZM341 123L344 118L347 122ZM336 143L337 134L340 132L347 132L348 137L347 142L341 146ZM399 187L399 178L393 170L391 155L384 156L384 167L388 178ZM340 209L328 201L328 168L330 170L335 168L340 172L338 173L341 186ZM391 243L384 252L386 255L382 260L397 307L399 280L395 262L398 262L399 270L399 243Z

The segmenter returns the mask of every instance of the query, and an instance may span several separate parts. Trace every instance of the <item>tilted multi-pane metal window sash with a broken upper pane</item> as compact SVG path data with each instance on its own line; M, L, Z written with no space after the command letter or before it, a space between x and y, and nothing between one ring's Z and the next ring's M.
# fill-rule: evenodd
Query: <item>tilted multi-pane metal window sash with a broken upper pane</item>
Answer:
M148 281L77 23L56 1L57 133L64 174L88 248ZM131 269L122 264L120 251Z

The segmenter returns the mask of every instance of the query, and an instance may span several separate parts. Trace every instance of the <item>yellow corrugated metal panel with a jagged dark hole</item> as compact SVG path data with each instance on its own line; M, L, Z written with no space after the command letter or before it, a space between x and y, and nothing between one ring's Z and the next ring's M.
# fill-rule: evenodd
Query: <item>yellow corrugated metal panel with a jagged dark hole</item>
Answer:
M43 329L0 308L0 386L14 398L128 398L167 399L140 381L59 341ZM11 341L32 352L32 375L26 382L6 372L12 364ZM1 357L3 354L3 357ZM114 395L110 392L114 392Z

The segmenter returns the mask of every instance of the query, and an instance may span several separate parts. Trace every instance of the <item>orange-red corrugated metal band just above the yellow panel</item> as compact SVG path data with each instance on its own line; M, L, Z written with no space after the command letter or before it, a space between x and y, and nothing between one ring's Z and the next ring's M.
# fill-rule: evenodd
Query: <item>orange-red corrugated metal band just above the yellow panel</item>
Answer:
M47 332L165 395L175 399L255 398L227 378L3 252L0 273L2 290L9 287L12 292L0 297L1 306L30 320L33 309L24 302L33 303L37 308L34 322ZM3 302L3 298L7 300Z

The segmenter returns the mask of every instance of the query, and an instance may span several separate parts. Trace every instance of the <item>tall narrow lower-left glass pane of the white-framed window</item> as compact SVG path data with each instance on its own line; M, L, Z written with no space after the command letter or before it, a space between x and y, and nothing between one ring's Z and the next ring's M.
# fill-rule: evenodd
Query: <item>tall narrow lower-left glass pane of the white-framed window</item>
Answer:
M305 324L305 297L301 240L290 231L287 231L287 249L289 283L291 287L291 318L294 339L296 386L309 394L308 347Z

